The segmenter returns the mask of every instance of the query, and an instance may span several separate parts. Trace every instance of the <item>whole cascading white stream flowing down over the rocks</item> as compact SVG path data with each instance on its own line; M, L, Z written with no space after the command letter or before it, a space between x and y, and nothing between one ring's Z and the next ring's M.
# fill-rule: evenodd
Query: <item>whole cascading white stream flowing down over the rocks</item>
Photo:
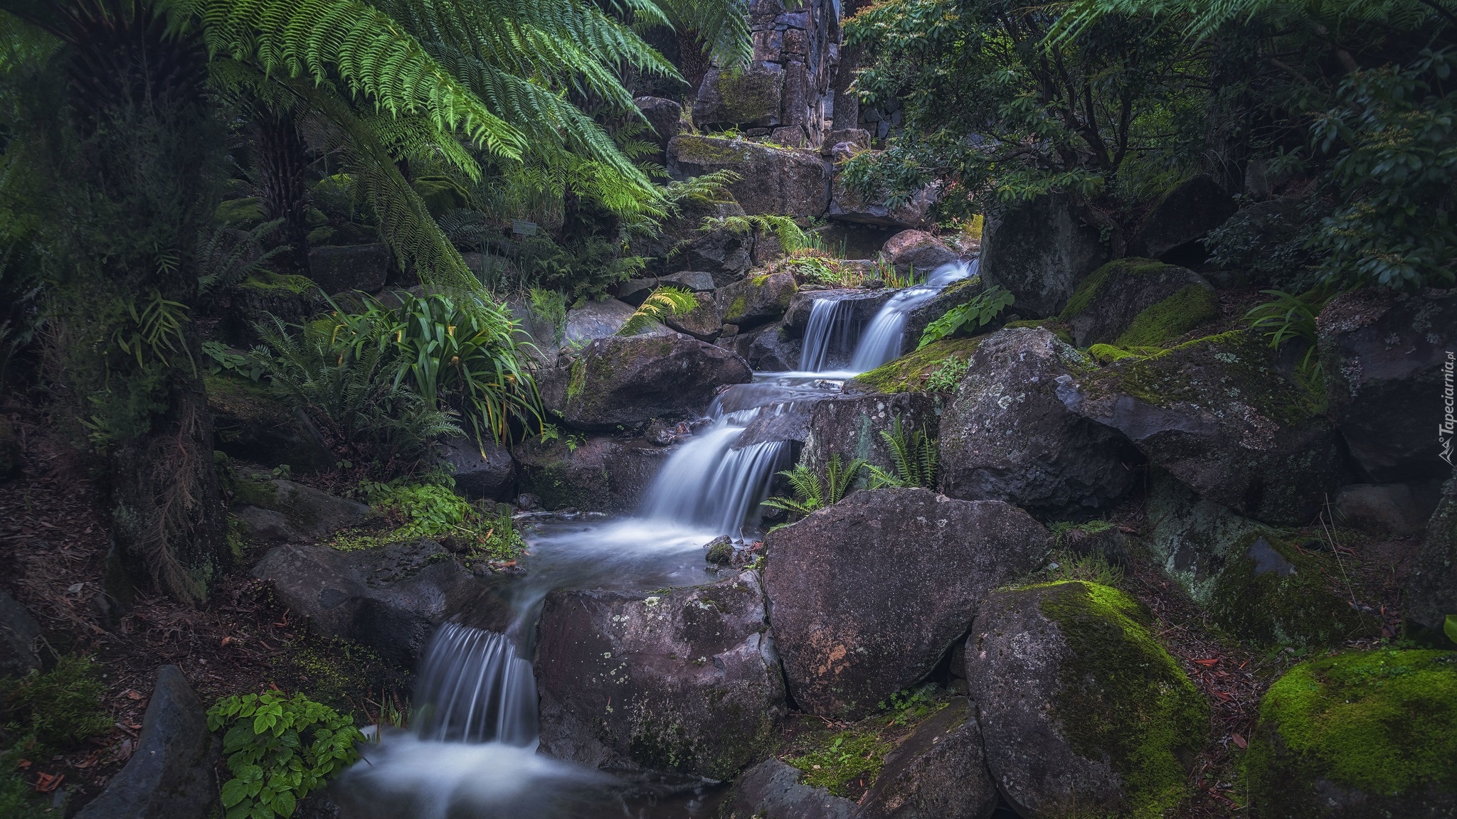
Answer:
M973 262L975 264L975 262ZM500 587L511 625L501 632L443 624L415 685L412 729L370 727L363 759L331 794L345 819L699 818L723 785L696 777L596 771L536 752L538 695L529 657L535 624L554 589L696 586L704 545L720 535L752 541L752 512L787 469L790 444L774 421L841 392L844 379L900 356L906 316L975 267L953 262L925 284L896 291L863 332L848 302L816 299L798 372L755 373L714 399L705 421L676 446L637 516L533 519L526 573ZM755 428L750 428L753 426ZM740 442L745 437L752 440Z

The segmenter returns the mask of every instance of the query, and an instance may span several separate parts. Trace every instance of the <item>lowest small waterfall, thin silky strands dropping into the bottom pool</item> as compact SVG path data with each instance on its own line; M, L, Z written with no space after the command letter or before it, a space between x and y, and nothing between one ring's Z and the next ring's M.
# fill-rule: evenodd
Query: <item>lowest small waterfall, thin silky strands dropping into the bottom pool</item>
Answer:
M415 688L420 739L536 748L536 678L504 634L447 622Z

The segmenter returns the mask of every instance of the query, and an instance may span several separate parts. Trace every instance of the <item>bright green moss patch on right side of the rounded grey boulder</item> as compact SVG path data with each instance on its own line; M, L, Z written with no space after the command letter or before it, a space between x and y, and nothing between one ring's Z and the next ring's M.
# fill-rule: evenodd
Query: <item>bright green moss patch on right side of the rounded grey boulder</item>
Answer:
M1077 580L1033 589L1043 590L1039 608L1069 650L1052 702L1064 736L1118 772L1131 816L1163 816L1189 794L1179 758L1203 748L1209 705L1154 640L1152 616L1135 599Z

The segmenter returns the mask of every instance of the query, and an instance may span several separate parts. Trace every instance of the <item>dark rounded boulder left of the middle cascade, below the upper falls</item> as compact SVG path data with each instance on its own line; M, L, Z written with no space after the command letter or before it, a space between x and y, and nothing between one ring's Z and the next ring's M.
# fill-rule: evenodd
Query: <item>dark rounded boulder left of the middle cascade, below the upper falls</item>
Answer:
M750 379L743 358L694 338L599 338L571 366L562 418L583 430L610 430L696 417L715 389Z

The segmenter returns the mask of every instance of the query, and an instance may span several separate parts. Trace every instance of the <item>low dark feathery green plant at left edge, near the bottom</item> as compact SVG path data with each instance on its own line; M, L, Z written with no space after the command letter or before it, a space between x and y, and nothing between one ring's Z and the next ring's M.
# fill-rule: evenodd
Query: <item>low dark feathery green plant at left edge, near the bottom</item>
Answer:
M34 743L31 755L66 751L111 730L111 716L101 705L106 686L90 657L63 654L45 673L31 670L0 682L6 730Z

